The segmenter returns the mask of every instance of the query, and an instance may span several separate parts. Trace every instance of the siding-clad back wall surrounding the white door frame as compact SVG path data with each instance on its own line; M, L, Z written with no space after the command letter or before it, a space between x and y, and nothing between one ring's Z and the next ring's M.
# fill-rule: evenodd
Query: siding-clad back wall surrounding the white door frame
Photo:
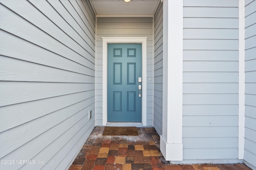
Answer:
M147 125L153 123L153 21L152 18L97 18L96 29L96 125L102 125L102 38L148 37Z

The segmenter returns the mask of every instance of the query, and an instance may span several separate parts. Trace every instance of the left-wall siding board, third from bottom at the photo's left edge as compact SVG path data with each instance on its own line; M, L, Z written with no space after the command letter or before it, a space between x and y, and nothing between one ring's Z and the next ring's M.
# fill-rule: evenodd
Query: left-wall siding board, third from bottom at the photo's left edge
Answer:
M14 106L0 107L0 113L2 113L0 115L0 132L22 125L28 121L32 121L38 117L71 106L88 98L94 100L93 96L94 91L88 91L42 100L34 100L32 102L16 104ZM52 105L52 103L55 103L55 105ZM37 111L35 111L35 109Z

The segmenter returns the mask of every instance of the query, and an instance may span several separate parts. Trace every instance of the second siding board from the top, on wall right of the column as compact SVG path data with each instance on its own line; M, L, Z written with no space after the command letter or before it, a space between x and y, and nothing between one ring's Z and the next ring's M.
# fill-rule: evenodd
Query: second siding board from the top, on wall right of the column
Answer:
M225 7L184 7L183 17L238 18L238 8Z

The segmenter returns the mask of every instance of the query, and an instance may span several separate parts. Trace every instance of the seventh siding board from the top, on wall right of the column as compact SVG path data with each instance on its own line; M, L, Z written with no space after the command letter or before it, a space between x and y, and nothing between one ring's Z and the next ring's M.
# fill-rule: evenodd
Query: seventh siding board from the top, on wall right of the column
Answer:
M184 72L237 72L238 61L183 61Z

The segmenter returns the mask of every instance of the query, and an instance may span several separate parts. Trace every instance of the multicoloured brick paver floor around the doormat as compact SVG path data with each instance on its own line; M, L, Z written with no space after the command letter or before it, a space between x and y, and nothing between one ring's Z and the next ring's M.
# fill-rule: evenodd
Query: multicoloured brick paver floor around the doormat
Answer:
M153 127L138 128L138 136L102 136L103 130L94 128L69 170L251 170L244 164L170 165Z

